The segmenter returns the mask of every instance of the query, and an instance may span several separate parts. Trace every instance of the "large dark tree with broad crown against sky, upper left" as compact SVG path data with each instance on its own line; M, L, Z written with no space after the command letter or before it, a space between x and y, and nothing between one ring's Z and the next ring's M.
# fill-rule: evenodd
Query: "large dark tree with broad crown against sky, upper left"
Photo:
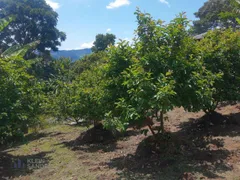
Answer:
M58 50L66 39L57 26L58 14L44 0L0 0L0 18L14 15L14 20L0 32L2 51L13 45L40 41L37 50Z

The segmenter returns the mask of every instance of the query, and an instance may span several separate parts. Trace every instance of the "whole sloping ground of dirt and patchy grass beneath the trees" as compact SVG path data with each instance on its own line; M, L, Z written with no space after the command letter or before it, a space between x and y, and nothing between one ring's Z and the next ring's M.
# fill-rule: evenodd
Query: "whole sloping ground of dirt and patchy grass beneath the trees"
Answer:
M0 179L240 180L240 104L217 111L223 116L176 108L157 144L134 129L118 140L84 144L86 128L57 125L2 147ZM40 166L26 168L31 163Z

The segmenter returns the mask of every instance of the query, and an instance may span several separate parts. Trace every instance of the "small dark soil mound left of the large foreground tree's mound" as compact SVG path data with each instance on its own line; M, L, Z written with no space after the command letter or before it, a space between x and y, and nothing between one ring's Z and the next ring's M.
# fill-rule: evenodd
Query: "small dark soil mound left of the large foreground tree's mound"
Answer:
M119 132L113 133L112 131L105 129L102 124L98 124L93 128L83 132L75 144L77 143L80 145L111 142L116 140L119 134Z

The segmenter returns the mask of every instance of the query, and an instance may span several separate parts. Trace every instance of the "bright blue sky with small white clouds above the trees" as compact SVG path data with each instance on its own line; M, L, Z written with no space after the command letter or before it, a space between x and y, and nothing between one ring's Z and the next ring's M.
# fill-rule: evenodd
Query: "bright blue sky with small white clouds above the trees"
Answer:
M206 0L46 0L59 14L58 28L67 34L60 49L91 47L96 34L110 32L131 40L137 27L136 7L169 22L180 12L194 20Z

